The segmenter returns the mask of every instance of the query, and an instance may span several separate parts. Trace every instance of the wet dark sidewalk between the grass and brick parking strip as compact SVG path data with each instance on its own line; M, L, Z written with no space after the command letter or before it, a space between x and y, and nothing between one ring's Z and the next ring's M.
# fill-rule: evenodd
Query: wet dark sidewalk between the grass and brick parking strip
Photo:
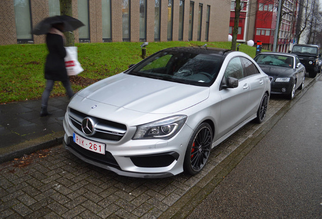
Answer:
M49 99L49 117L39 117L41 100L0 104L0 163L62 142L69 99Z

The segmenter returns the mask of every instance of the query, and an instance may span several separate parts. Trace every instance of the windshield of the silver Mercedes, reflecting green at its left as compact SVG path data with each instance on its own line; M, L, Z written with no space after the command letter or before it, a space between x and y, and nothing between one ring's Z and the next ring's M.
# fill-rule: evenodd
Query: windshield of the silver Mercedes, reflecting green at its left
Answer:
M210 86L223 58L187 51L160 51L134 66L127 74L197 86Z

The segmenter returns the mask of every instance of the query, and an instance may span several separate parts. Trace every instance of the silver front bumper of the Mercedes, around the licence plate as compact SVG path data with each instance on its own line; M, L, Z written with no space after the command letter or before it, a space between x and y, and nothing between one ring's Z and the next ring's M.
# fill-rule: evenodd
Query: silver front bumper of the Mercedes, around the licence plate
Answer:
M113 171L119 175L161 178L183 172L183 161L192 129L184 125L169 140L144 139L132 140L133 132L128 133L119 141L109 141L86 136L80 133L68 120L64 119L64 147L79 159L95 166ZM73 132L100 143L104 143L105 155L82 148L73 141Z

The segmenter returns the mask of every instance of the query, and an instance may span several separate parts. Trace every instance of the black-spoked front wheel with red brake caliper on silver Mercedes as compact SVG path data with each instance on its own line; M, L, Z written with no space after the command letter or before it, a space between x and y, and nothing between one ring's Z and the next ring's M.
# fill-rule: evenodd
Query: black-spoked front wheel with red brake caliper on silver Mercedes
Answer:
M190 175L200 172L208 161L213 141L212 128L208 123L200 124L190 138L183 162L183 171Z

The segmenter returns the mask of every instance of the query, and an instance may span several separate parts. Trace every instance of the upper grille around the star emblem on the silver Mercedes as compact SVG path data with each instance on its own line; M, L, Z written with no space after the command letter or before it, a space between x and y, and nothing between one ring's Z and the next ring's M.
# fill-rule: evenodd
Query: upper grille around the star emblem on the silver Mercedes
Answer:
M88 116L84 113L76 111L73 108L69 108L68 118L71 121L72 125L80 132L83 132L82 121L86 117L90 117L95 120L95 133L91 135L91 137L104 140L119 141L127 131L127 127L124 124Z

